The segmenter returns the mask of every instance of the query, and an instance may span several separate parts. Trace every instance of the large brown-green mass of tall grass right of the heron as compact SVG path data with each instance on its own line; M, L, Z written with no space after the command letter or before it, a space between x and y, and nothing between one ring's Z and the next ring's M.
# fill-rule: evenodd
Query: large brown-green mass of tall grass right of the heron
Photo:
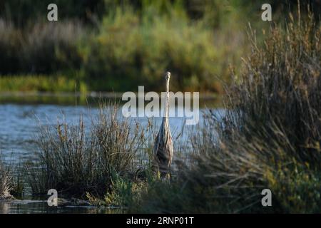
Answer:
M320 212L321 27L310 12L289 18L271 26L263 46L250 36L250 56L226 90L225 117L209 112L192 137L192 151L203 151L195 165L132 211ZM261 204L265 188L272 207Z

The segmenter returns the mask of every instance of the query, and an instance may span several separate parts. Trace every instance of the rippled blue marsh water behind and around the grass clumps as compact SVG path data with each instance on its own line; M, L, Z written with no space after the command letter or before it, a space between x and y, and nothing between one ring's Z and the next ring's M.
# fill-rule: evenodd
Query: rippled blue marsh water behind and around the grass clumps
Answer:
M73 100L71 98L71 100ZM98 109L98 102L93 100L88 104L78 103L68 100L57 100L56 97L31 99L29 101L25 96L21 99L2 99L0 101L0 154L6 162L12 165L31 159L34 152L38 150L36 146L36 137L41 125L56 125L58 122L66 121L68 124L77 124L82 116L85 126L90 126L93 116ZM211 103L212 107L215 105ZM176 111L183 107L174 107ZM203 110L200 108L200 120L203 119ZM221 111L220 109L216 109ZM118 111L121 118L121 110ZM144 126L148 124L148 118L133 118L134 121ZM156 129L161 125L161 118L153 118ZM170 128L172 134L178 135L193 125L185 125L185 118L170 118ZM46 200L34 199L28 191L23 200L14 202L0 202L0 213L112 213L113 209L101 209L97 207L49 207Z

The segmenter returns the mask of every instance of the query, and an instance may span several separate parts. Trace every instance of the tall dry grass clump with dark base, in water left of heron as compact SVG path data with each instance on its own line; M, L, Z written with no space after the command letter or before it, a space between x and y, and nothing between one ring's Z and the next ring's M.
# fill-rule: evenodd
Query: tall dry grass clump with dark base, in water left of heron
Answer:
M81 119L78 125L41 128L38 164L29 168L33 192L55 188L66 197L101 197L112 190L112 177L133 176L143 131L117 113L116 105L102 105L91 127Z

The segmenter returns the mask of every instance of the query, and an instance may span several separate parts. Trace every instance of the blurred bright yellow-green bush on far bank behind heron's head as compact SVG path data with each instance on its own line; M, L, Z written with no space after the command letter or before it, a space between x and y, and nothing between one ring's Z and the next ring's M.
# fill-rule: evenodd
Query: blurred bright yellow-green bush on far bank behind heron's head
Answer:
M220 68L214 64L218 54L213 33L182 14L155 16L150 9L140 19L126 8L105 17L86 57L88 83L98 90L123 91L142 84L162 90L163 72L170 69L173 90L217 89L213 78Z

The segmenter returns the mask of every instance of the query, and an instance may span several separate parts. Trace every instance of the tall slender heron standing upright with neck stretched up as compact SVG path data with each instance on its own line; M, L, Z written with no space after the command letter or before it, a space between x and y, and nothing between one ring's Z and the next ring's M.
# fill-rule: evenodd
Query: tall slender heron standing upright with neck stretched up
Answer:
M163 116L163 122L161 128L159 129L158 135L155 140L155 145L153 148L153 154L155 157L155 166L161 173L161 176L165 176L170 172L170 165L173 160L173 140L170 133L170 126L168 121L169 114L169 80L170 73L165 74L166 79L166 100L165 100L165 110Z

